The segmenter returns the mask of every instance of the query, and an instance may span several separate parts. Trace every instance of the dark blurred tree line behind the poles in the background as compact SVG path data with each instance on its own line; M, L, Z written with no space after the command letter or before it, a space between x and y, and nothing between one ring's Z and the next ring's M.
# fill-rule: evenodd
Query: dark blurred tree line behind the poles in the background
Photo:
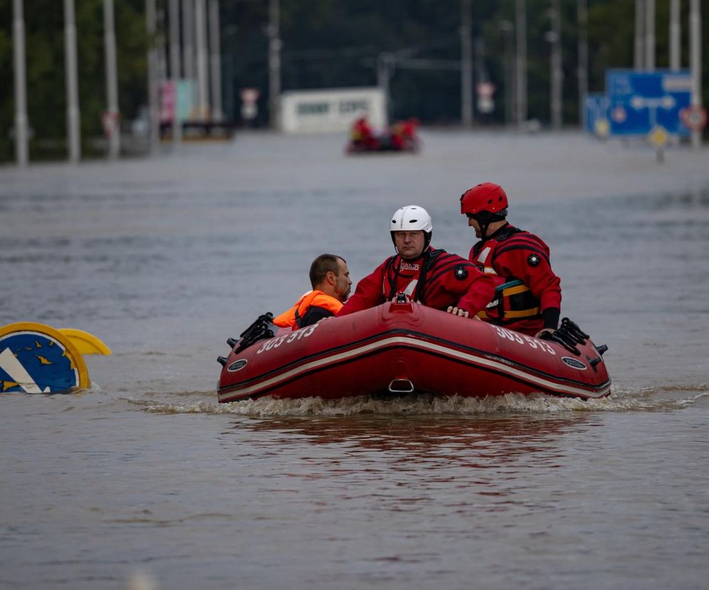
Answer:
M103 0L76 1L81 134L102 135L106 110ZM146 53L165 48L166 0L156 0L158 33L148 39L145 0L115 3L119 104L123 125L146 103ZM563 120L578 124L578 21L576 0L561 0ZM588 89L602 92L608 68L633 66L634 0L588 0ZM709 96L709 0L703 10L703 96ZM221 0L223 104L239 122L239 90L260 90L257 123L268 120L267 0ZM496 86L493 113L475 113L478 124L509 119L505 91L514 33L514 0L471 2L475 76ZM527 0L528 115L549 123L551 27L549 0ZM688 10L682 2L682 65L688 67ZM377 61L393 56L392 117L416 116L422 123L456 124L460 118L460 0L280 0L282 90L374 86ZM12 0L0 0L0 160L14 157ZM31 157L56 157L66 137L63 2L24 0ZM668 65L669 0L656 4L656 67ZM512 45L511 45L511 43ZM456 65L457 64L457 65ZM457 68L457 69L456 69ZM125 129L125 128L124 128ZM53 150L49 146L54 146ZM84 149L85 153L90 150ZM59 155L61 157L61 155Z

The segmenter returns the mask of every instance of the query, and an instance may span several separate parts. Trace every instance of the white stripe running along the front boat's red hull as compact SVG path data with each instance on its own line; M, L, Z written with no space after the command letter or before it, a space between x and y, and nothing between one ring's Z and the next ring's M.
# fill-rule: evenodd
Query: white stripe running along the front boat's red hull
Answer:
M322 367L330 363L337 363L337 361L345 361L348 358L352 358L353 356L366 354L368 352L377 350L377 348L386 348L388 346L392 346L393 344L405 344L407 346L414 346L416 348L426 348L429 351L443 353L447 356L459 358L461 361L473 363L474 365L489 367L494 369L495 371L500 371L501 373L506 373L510 376L522 378L524 381L529 381L531 383L534 383L535 385L540 385L541 387L558 391L559 393L578 393L581 395L590 395L591 393L593 393L585 389L571 387L570 385L554 383L553 381L548 381L531 373L526 373L521 369L511 367L499 361L494 361L491 358L484 358L474 356L463 351L456 351L453 348L441 346L433 342L419 340L417 338L413 338L412 336L391 336L389 338L384 338L383 340L379 340L377 342L372 342L369 344L364 344L363 346L359 346L357 348L352 348L352 350L349 351L345 351L332 356L327 356L325 358L320 358L315 361L311 361L310 363L305 363L305 365L292 368L290 371L286 371L281 375L277 375L275 377L267 379L262 383L257 383L257 385L252 385L251 387L230 391L228 393L224 393L223 395L220 394L219 398L233 397L234 393L238 393L240 397L243 397L244 395L249 395L250 393L254 393L255 391L275 386L280 381L287 381L287 379L296 377L300 375L300 373L305 373L306 371L310 371L313 368ZM610 386L606 387L601 392L595 393L594 395L605 395L608 390L610 390Z

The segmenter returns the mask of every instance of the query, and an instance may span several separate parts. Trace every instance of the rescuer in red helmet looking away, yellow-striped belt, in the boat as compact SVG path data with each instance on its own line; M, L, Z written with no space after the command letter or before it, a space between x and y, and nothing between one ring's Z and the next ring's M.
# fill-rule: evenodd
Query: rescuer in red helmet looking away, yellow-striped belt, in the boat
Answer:
M534 234L506 221L507 195L492 182L460 197L460 212L480 238L469 260L494 276L495 296L480 317L527 334L554 331L561 313L561 281L551 270L549 247Z

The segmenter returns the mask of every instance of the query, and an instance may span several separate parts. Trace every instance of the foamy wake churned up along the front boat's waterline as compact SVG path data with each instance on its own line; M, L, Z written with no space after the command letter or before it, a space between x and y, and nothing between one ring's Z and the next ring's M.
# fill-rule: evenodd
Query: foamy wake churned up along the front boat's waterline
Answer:
M690 395L688 395L690 394ZM212 394L213 395L213 394ZM670 395L670 397L667 397ZM202 400L190 401L199 396ZM489 398L436 395L402 395L382 398L362 395L354 398L325 400L322 398L272 399L235 403L204 400L205 392L170 394L172 399L126 398L148 413L160 414L226 414L248 418L280 416L353 416L353 415L495 415L509 413L563 412L663 412L682 410L703 398L709 399L709 385L688 385L673 388L618 390L608 398L580 400L552 398L549 395L508 393Z

